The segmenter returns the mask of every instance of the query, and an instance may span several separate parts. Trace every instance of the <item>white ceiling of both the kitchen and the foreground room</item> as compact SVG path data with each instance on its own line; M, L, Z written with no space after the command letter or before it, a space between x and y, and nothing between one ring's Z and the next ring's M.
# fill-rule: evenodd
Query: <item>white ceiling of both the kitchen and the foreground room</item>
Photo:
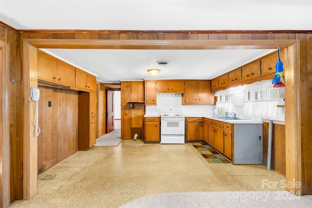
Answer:
M0 0L15 29L312 30L312 0ZM47 49L101 82L211 79L272 50ZM160 67L156 61L168 60ZM146 70L158 67L153 77Z

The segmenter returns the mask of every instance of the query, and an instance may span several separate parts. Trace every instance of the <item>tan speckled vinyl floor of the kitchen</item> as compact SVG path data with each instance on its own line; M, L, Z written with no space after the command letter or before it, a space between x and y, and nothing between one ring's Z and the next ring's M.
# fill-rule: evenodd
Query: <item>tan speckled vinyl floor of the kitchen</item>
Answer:
M78 151L39 174L38 194L11 208L118 208L169 192L285 190L284 179L262 165L207 163L191 144L123 140Z

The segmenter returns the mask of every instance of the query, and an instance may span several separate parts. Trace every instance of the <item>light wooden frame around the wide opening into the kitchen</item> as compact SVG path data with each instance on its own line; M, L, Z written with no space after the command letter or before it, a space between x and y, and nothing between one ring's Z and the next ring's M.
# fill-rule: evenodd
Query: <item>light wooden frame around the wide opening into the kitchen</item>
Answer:
M37 138L33 136L29 90L38 85L37 48L59 49L277 49L285 50L290 63L285 64L286 94L286 182L302 183L300 119L300 47L299 40L89 40L89 39L23 39L23 193L24 199L37 194ZM293 102L292 102L293 101ZM36 164L37 165L37 164ZM302 186L287 187L301 195Z

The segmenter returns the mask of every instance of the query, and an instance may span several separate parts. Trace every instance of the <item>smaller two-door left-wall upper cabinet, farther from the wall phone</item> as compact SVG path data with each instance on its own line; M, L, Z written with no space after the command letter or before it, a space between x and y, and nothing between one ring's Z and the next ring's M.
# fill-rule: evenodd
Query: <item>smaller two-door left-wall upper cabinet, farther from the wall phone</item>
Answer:
M95 91L97 77L90 75L80 69L76 69L76 87L84 90Z

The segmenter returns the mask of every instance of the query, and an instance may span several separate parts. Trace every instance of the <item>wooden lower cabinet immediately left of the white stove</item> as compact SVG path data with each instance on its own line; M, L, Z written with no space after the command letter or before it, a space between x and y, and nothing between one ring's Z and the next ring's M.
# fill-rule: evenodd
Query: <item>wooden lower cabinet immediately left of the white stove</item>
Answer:
M144 118L144 142L160 142L159 117Z

